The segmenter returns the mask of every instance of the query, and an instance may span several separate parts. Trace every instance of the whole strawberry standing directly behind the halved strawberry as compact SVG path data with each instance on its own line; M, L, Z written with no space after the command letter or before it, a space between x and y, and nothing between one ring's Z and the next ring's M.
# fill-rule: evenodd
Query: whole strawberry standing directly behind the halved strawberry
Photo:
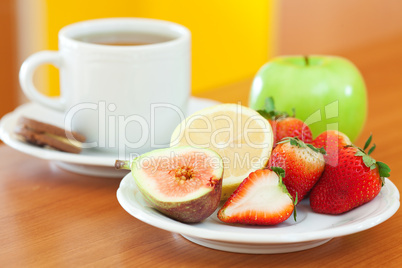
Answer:
M299 202L306 197L324 171L322 149L306 144L298 138L286 138L272 151L269 167L281 167L286 176L283 183L292 197Z

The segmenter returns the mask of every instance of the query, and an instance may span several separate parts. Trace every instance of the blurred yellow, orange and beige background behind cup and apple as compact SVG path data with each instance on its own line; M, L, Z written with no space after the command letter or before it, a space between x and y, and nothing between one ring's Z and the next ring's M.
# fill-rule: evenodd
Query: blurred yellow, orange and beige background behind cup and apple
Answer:
M238 81L247 92L250 79L273 56L342 56L392 40L402 34L400 10L402 1L396 0L1 0L0 117L27 101L18 82L22 62L39 50L57 49L59 29L77 21L139 16L187 26L193 35L193 94L207 96L209 89ZM54 67L41 67L35 77L38 88L58 94Z

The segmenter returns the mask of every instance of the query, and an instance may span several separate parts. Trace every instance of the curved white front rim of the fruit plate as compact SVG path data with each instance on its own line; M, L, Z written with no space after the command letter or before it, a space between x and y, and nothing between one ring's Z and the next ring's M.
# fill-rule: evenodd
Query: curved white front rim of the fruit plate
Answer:
M357 226L358 228L351 228L349 226L337 226L332 229L324 229L318 231L310 231L305 233L292 233L291 235L258 235L255 234L236 234L236 237L230 237L225 233L222 233L217 230L208 230L204 228L197 227L197 224L186 224L181 223L175 220L168 218L162 214L157 214L158 216L146 216L144 211L137 211L135 208L131 207L129 202L126 200L126 197L123 194L123 189L125 187L130 187L129 180L131 179L131 173L128 173L121 180L119 188L117 189L116 196L118 202L123 207L126 212L128 212L133 217L138 220L145 222L151 226L154 226L159 229L163 229L166 231L170 231L173 233L179 233L181 235L186 235L190 237L202 238L213 241L222 241L222 242L231 242L231 243L241 243L241 244L289 244L289 243L300 243L300 242L308 242L315 240L323 240L323 239L332 239L334 237L340 237L345 235L354 234L357 232L361 232L367 229L370 229L376 225L381 224L386 221L390 217L392 217L398 210L400 206L400 196L397 187L392 183L388 178L385 179L385 185L391 192L390 198L393 199L392 205L387 207L381 214L376 215L374 217L370 217L369 219L363 219L363 222L359 221ZM134 180L132 180L132 184L134 185ZM136 186L135 186L136 187ZM137 191L138 188L136 189ZM133 193L134 194L134 193ZM313 212L314 213L314 212ZM345 214L343 214L345 215ZM328 217L336 217L337 215L326 215ZM161 219L163 221L161 222ZM352 224L353 227L353 224ZM180 230L180 231L179 231ZM202 230L202 232L200 232Z

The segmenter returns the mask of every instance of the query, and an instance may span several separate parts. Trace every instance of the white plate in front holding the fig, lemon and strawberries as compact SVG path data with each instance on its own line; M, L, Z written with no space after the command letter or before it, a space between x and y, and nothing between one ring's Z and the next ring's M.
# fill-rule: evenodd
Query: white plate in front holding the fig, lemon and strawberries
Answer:
M186 239L213 249L252 254L285 253L322 245L334 237L374 227L395 214L399 208L399 192L388 179L380 194L371 202L341 215L314 213L308 200L297 206L297 222L293 217L275 226L225 224L217 211L201 223L185 224L170 219L150 207L139 192L131 174L127 174L117 190L120 205L135 218L166 231L179 233Z

